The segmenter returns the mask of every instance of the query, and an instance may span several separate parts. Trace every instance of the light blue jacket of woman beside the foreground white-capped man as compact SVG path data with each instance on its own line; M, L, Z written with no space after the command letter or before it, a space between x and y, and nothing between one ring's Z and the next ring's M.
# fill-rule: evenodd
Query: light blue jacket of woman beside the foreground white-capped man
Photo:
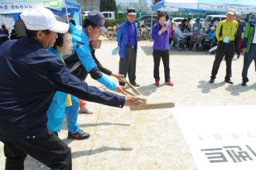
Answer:
M59 52L57 52L56 49L49 48L47 51L52 52L62 61ZM52 132L60 132L65 115L66 99L67 93L57 91L56 94L54 94L49 109L47 110L47 127Z

